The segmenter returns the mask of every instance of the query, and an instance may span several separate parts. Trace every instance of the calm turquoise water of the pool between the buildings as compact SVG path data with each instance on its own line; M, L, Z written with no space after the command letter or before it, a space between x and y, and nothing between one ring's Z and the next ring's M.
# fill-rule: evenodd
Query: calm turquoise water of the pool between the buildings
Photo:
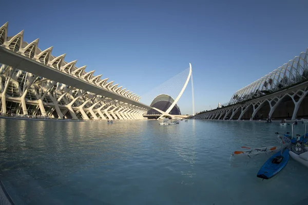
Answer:
M230 157L277 145L277 131L291 127L0 119L0 179L15 204L308 204L308 169L298 162L262 181L269 155Z

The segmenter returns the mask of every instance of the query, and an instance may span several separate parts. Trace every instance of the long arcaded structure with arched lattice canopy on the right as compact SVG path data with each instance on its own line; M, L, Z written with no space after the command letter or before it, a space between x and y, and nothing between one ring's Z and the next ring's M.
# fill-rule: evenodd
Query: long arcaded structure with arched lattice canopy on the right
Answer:
M220 109L199 113L197 119L234 119L237 113L241 120L247 110L252 109L250 119L254 119L258 111L269 106L268 116L272 117L276 108L285 97L290 97L294 103L292 120L308 93L308 49L293 60L274 70L254 83L236 91L230 102Z

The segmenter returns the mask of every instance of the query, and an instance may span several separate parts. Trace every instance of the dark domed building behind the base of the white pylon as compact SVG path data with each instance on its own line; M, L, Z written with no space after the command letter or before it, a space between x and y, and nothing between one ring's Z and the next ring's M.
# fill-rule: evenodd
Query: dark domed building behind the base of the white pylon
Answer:
M160 94L153 99L150 107L157 108L161 111L166 112L168 108L172 105L172 103L174 103L174 101L175 100L170 95ZM147 114L148 115L160 115L161 113L158 112L157 110L150 109L147 112ZM179 106L176 104L168 114L181 115Z

